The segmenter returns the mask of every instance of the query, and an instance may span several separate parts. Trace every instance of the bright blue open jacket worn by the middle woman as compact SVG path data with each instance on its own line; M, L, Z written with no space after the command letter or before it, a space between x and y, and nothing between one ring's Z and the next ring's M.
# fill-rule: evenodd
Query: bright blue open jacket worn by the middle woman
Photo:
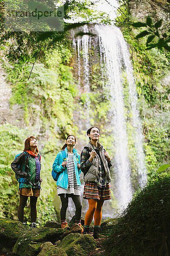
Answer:
M65 148L65 153L66 153L66 160L68 159L68 150L67 147ZM80 168L77 167L77 164L80 164L80 155L77 153L77 149L73 148L73 160L74 160L74 166L75 166L75 174L76 174L76 180L77 180L77 185L81 185L80 179L79 179L79 174L81 173ZM53 163L53 171L54 172L61 172L56 185L62 187L63 189L68 189L68 172L67 172L67 166L62 167L62 162L63 162L63 157L62 157L62 152L59 151L57 154L57 157Z

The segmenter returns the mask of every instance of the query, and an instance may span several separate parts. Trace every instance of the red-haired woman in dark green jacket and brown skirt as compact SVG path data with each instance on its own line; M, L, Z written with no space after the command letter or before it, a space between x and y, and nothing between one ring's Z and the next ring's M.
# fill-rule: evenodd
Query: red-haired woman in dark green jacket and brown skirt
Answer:
M38 154L37 139L31 136L25 141L23 153L17 155L11 163L11 168L19 182L20 205L18 207L18 220L23 222L24 207L30 196L31 227L36 227L37 198L40 196L40 154ZM23 222L24 223L24 222Z

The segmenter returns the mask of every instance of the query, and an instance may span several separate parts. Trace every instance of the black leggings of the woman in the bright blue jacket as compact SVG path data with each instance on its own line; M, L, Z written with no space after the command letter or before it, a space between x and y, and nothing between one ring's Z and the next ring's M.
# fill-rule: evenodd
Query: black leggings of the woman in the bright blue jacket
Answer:
M60 194L60 199L61 199L61 210L60 210L60 217L61 220L65 220L66 218L66 211L68 208L68 194ZM76 220L80 220L81 219L81 214L82 214L82 201L81 201L81 197L79 195L73 195L73 194L69 194L69 197L72 198L74 205L76 207Z

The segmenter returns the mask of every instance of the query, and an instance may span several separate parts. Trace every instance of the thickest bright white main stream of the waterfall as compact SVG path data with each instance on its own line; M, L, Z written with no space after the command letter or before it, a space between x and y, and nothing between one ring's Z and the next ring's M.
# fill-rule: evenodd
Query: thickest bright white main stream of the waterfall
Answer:
M121 79L122 58L119 46L121 32L116 27L95 25L98 32L100 55L107 67L107 87L111 95L111 125L114 138L114 161L118 175L119 204L126 205L132 197L130 168L127 156L127 128L125 122L125 104Z

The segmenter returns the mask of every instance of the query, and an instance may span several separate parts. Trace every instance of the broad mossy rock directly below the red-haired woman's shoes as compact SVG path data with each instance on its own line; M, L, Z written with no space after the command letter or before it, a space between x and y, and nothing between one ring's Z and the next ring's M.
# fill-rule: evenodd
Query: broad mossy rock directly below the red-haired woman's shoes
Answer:
M62 236L64 230L61 228L39 227L25 230L20 234L13 248L13 253L19 256L37 255L42 243L50 241L55 243ZM34 246L33 246L34 244ZM37 244L37 246L36 246ZM30 250L28 250L30 248Z

